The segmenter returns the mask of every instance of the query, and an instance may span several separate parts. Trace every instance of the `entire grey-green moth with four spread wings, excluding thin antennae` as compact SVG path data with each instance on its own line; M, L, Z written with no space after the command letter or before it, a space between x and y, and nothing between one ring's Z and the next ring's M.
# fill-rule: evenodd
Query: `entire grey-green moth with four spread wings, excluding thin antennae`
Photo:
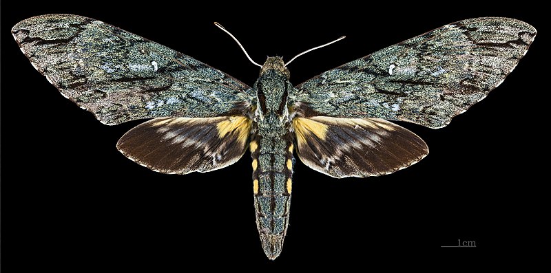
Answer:
M387 120L445 127L503 82L536 30L516 19L467 19L296 86L288 63L269 57L252 87L87 17L32 17L12 34L34 68L100 122L151 119L116 144L138 164L168 174L208 172L235 163L248 148L256 226L265 254L275 259L289 224L293 152L337 178L415 164L428 154L425 142Z

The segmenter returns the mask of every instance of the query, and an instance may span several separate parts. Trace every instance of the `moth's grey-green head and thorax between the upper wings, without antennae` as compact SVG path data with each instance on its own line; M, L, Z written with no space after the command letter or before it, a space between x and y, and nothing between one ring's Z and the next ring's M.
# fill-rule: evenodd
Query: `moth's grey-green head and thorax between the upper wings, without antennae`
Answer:
M282 58L269 57L260 69L260 77L254 87L258 97L257 116L277 116L287 120L287 97L293 85L289 83L289 71L284 67Z

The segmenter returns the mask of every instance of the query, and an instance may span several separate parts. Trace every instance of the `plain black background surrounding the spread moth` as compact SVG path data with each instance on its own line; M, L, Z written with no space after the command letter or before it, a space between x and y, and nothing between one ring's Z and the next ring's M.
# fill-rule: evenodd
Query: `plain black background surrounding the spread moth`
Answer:
M47 3L45 3L47 2ZM224 266L511 263L538 241L537 197L548 162L543 113L549 87L541 63L545 17L537 6L478 2L362 3L43 1L1 7L2 266L52 270L186 270ZM251 57L295 54L346 35L291 65L297 85L327 69L446 23L513 17L539 30L517 68L490 96L444 129L399 123L430 155L392 175L333 179L295 165L291 221L281 256L269 261L254 223L251 160L212 173L163 175L116 150L140 122L108 127L66 100L30 65L10 36L28 17L92 17L167 45L252 85ZM544 57L545 56L545 57ZM534 156L543 155L543 160ZM539 163L537 163L539 162ZM535 212L535 213L534 213ZM457 241L477 248L441 248Z

